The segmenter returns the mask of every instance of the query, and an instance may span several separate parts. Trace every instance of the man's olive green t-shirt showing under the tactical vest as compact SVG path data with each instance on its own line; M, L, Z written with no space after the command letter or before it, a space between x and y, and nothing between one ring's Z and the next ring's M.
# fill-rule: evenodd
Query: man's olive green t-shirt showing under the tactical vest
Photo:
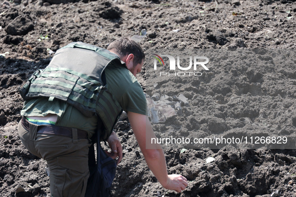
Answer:
M125 111L146 114L146 98L136 77L122 65L105 68L106 83ZM45 116L57 114L56 125L75 127L88 131L91 137L96 131L98 116L86 117L77 108L59 99L49 101L47 97L25 101L21 111L23 116Z

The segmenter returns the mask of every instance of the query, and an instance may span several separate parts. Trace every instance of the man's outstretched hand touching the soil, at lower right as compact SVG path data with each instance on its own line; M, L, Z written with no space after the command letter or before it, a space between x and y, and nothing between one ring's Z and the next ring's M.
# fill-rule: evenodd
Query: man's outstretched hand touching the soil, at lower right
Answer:
M188 185L187 179L179 174L170 174L168 175L168 181L166 185L162 185L166 189L175 190L181 192Z

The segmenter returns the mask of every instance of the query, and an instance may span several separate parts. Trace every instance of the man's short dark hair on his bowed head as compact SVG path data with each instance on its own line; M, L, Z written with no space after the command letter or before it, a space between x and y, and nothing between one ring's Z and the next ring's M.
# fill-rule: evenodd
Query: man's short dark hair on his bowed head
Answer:
M114 50L120 58L132 53L134 55L134 65L137 65L138 63L141 63L142 60L145 60L145 54L140 44L129 37L121 37L114 40L109 44L107 50Z

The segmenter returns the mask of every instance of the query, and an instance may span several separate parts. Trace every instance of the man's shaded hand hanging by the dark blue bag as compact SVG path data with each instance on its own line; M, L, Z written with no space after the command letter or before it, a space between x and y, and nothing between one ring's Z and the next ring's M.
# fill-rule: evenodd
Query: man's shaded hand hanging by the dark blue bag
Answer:
M105 152L107 153L108 156L110 156L113 159L118 157L117 159L117 164L118 164L122 159L122 146L114 131L112 131L111 135L107 139L107 142L109 144L109 147L111 148L111 152L108 152L106 150Z

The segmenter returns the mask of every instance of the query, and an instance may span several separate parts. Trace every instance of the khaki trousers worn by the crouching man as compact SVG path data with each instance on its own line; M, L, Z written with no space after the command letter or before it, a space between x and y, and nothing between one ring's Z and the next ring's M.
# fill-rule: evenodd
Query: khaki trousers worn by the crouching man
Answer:
M30 130L19 123L18 130L25 147L44 158L50 169L51 196L85 195L89 177L89 139L37 133L38 125L30 122ZM77 136L77 135L76 135Z

